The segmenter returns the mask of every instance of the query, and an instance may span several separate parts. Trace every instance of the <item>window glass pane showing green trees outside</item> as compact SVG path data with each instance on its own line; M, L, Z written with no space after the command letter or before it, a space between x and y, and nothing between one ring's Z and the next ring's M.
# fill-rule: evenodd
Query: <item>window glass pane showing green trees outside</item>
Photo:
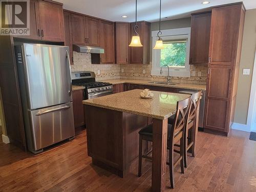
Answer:
M163 41L164 49L161 50L160 67L185 67L187 40Z

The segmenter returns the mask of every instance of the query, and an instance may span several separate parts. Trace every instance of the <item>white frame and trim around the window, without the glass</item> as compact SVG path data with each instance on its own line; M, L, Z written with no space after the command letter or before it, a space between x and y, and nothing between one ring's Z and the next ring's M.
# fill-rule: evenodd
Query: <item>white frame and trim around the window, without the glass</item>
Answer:
M162 35L161 38L163 40L180 40L187 39L186 42L186 61L185 67L170 67L169 72L170 76L174 77L190 77L190 65L189 65L189 50L190 50L190 30L191 28L179 28L179 29L168 29L161 30ZM158 31L152 31L152 70L151 75L156 76L166 76L167 75L167 67L163 67L163 74L160 74L160 58L161 58L161 50L153 49L156 41L158 40L157 36Z

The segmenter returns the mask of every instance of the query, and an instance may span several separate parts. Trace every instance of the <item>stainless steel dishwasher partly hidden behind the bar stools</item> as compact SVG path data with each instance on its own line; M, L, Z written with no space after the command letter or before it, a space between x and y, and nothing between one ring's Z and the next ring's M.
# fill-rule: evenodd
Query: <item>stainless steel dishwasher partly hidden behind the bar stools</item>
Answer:
M190 94L198 92L199 90L179 89L178 93ZM205 91L202 91L202 98L199 105L199 122L198 126L203 128L204 125L204 102L205 102Z

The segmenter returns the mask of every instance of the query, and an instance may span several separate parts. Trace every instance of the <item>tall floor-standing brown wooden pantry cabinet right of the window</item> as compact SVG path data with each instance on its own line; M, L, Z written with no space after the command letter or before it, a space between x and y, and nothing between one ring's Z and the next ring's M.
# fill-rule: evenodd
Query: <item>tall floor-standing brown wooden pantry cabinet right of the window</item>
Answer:
M244 18L242 3L211 12L204 128L223 135L234 118Z

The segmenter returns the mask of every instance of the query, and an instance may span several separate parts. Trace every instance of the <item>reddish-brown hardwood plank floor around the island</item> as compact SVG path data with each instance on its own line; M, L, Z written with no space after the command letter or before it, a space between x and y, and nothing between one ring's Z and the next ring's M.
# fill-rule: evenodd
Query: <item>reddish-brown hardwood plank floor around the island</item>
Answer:
M195 158L185 174L175 168L175 188L166 191L256 191L256 142L249 133L231 130L228 137L198 133ZM92 165L86 131L39 155L0 143L0 191L151 191L151 162L125 179Z

